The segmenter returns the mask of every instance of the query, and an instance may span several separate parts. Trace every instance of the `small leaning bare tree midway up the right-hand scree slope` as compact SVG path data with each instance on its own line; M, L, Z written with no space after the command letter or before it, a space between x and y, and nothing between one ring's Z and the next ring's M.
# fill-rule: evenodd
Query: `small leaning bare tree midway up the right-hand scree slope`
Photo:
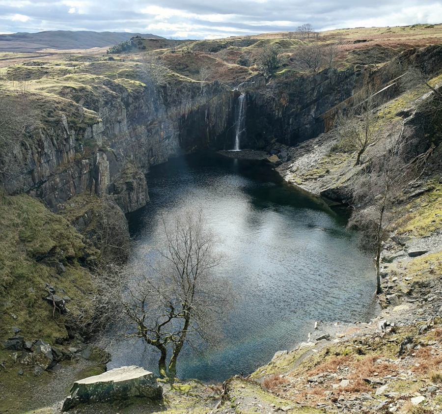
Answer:
M347 108L337 119L342 147L357 151L356 166L361 165L365 150L384 133L385 120L375 113L374 109L377 106L378 102L369 90L368 98L355 99L353 106Z

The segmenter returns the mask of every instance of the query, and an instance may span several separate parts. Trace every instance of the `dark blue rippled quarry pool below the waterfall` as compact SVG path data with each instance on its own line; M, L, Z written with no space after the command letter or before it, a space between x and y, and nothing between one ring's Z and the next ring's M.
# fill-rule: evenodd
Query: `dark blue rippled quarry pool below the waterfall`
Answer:
M282 182L262 161L196 154L153 167L150 203L129 217L145 248L165 210L202 208L223 239L228 275L238 299L224 327L221 349L204 358L184 349L178 376L224 380L249 374L278 350L306 340L315 320L369 319L375 312L375 275L346 218L321 200ZM143 346L112 352L111 367L136 364L156 370Z

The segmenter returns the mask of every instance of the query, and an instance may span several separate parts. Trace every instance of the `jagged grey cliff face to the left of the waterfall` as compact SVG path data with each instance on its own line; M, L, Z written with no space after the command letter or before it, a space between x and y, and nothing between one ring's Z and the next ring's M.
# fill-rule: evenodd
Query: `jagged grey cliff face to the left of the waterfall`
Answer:
M129 82L104 78L98 92L61 87L57 99L72 116L63 107L40 122L37 137L22 149L25 173L18 184L4 180L6 191L42 198L53 211L78 193L111 194L124 212L134 211L148 200L149 166L217 145L230 122L233 96L218 82L202 89L189 82L159 88Z

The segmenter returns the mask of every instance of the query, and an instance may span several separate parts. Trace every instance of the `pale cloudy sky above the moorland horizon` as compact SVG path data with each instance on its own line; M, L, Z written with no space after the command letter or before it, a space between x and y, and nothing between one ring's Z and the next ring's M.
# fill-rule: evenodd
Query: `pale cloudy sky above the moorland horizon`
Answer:
M0 0L0 33L93 30L213 39L442 23L442 0Z

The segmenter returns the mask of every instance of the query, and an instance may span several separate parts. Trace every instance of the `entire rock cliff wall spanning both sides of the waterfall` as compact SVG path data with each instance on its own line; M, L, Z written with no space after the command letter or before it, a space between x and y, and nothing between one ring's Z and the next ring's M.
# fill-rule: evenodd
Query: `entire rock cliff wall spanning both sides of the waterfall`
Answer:
M25 173L0 181L8 193L27 192L53 211L82 192L112 195L124 212L134 211L148 200L149 166L204 147L233 148L240 92L247 92L241 147L293 146L331 129L334 115L360 90L386 87L386 98L397 95L407 65L430 73L441 50L412 49L382 67L328 69L267 84L258 74L235 92L218 81L201 87L179 77L148 87L118 78L126 63L118 64L116 80L84 73L39 79L28 99L42 116L32 142L17 150Z

